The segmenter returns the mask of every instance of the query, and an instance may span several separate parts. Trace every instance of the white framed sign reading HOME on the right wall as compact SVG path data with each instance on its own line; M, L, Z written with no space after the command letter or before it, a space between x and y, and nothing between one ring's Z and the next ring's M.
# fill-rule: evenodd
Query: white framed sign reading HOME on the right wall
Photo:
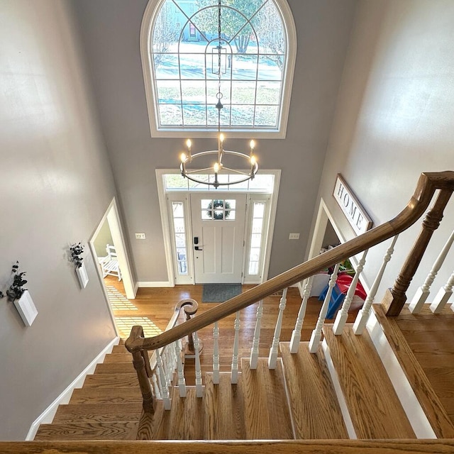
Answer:
M333 196L357 235L365 233L372 227L372 219L362 208L355 194L353 194L340 174L336 177Z

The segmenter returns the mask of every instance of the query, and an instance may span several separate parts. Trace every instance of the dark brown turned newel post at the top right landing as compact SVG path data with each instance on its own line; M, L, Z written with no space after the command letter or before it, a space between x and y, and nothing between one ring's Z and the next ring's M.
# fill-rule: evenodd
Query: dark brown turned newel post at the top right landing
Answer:
M387 316L397 316L402 311L406 301L406 290L409 288L411 279L419 267L419 263L423 258L424 252L426 251L428 242L431 240L432 234L440 225L441 219L443 218L443 210L450 199L452 194L451 189L441 189L437 196L435 204L426 218L423 220L423 226L419 237L411 248L409 255L407 256L402 270L399 273L394 286L390 292L387 292L382 301L384 309L387 311Z

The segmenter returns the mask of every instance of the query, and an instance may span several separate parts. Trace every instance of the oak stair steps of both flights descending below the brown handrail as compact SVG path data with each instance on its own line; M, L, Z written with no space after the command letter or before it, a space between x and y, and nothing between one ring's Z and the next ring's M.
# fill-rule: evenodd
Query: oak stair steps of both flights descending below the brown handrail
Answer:
M315 354L306 342L296 354L281 343L274 370L267 358L259 358L255 370L242 358L238 384L231 384L229 372L221 372L219 384L207 373L204 397L187 387L187 397L180 398L172 387L171 409L157 401L155 413L141 420L131 356L118 345L54 421L40 426L35 440L132 440L137 433L142 440L416 438L367 333L355 336L351 326L341 336L331 326L323 331L326 346ZM325 350L336 368L334 380Z

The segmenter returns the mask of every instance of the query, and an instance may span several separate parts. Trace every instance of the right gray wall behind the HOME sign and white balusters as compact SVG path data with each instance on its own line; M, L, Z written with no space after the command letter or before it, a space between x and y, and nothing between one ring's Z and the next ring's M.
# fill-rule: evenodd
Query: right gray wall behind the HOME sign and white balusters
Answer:
M359 3L320 191L347 239L353 231L331 195L338 172L378 225L404 208L421 172L454 170L453 23L450 0ZM454 200L433 236L410 297L453 225ZM392 285L419 229L420 223L399 238L383 287ZM378 248L368 257L368 284L384 250ZM446 265L435 289L453 271L454 250Z

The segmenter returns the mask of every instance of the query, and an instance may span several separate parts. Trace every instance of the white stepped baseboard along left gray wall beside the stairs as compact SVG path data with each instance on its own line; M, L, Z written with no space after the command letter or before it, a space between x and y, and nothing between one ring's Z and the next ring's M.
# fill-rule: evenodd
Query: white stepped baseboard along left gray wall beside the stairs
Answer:
M57 408L60 404L67 404L70 402L72 391L76 388L81 388L82 384L84 384L85 377L87 375L92 374L94 372L94 369L96 365L99 362L104 361L104 356L106 356L107 353L111 353L112 348L114 345L118 345L118 342L120 341L120 338L116 337L114 338L111 342L109 342L108 345L99 353L99 355L96 355L96 358L92 360L92 362L85 367L82 372L80 372L79 375L71 382L71 384L60 394L60 396L55 399L52 404L48 406L47 409L43 411L40 416L38 416L35 421L33 421L32 425L30 426L30 430L28 431L28 434L26 436L26 441L33 441L35 439L36 432L38 432L38 428L40 424L48 424L52 422L52 419L55 416L55 413L57 412Z

